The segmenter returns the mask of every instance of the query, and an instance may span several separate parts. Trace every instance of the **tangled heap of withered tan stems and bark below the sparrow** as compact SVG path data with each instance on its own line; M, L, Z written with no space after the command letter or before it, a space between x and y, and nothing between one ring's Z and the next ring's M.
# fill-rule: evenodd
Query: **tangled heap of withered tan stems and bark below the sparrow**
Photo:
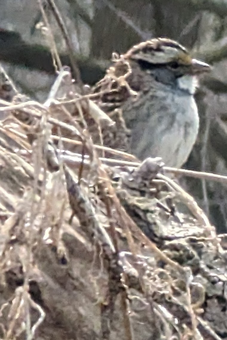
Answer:
M225 338L225 236L160 159L119 151L121 112L68 68L43 104L1 71L0 338Z

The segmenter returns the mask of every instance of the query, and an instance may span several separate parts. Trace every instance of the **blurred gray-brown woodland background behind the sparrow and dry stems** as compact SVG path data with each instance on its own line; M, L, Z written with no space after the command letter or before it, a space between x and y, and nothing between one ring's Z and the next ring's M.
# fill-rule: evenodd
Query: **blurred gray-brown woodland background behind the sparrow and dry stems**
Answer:
M53 0L52 0L53 1ZM63 64L68 48L51 11L52 1L0 0L0 63L19 91L45 101L55 78L47 15ZM105 74L112 52L124 53L152 37L169 37L211 63L196 93L200 131L185 168L227 175L227 1L55 0L71 40L82 81ZM227 232L227 184L180 179L218 232Z

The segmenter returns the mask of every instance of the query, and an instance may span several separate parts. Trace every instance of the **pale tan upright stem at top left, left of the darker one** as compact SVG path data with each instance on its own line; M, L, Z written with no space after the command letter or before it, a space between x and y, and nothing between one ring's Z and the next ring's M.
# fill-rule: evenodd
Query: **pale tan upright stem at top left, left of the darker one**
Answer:
M52 30L51 30L48 18L46 16L45 10L43 8L42 2L41 2L41 0L37 0L37 1L38 1L38 4L39 4L40 12L42 13L43 21L45 23L45 26L48 29L48 38L49 39L46 39L46 40L47 40L47 42L50 43L50 51L51 51L51 55L52 55L53 65L54 65L55 71L57 71L62 67L62 62L60 61L60 57L59 57L59 54L57 52L57 47L56 47L56 44L55 44L55 41L54 41Z

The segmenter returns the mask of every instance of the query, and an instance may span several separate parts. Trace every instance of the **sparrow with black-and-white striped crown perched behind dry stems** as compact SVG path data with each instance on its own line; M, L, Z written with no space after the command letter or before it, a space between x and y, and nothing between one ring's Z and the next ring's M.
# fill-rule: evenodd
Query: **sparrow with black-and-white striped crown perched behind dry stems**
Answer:
M141 160L161 157L166 166L180 168L199 129L194 99L198 75L210 68L177 41L152 38L124 54L114 53L111 66L92 93L110 116L121 110L130 131L130 137L126 133L130 152ZM119 126L119 131L124 128ZM111 146L111 142L107 144Z

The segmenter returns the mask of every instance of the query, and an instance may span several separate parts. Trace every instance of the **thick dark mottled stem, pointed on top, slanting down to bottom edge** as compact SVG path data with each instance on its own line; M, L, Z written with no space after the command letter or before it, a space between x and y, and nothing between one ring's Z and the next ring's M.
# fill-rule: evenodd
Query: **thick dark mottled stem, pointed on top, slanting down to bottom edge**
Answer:
M98 221L95 209L91 205L89 198L83 194L80 185L76 183L66 166L64 166L64 171L71 208L79 219L81 227L88 235L89 240L93 238L94 234L103 251L105 267L108 273L108 291L106 302L101 305L101 329L102 338L109 339L115 301L120 288L123 288L120 280L122 268L118 264L118 251L115 249L105 228Z

